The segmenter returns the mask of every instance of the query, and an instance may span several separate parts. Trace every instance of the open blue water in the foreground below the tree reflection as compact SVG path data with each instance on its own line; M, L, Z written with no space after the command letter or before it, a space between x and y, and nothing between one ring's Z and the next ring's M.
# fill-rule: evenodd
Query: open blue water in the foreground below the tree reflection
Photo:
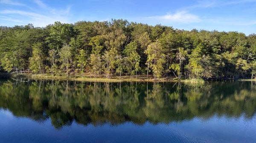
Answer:
M207 120L194 118L181 123L132 122L118 126L88 126L73 123L55 129L48 119L38 123L17 118L8 110L0 110L2 143L253 143L256 141L256 118L214 116Z

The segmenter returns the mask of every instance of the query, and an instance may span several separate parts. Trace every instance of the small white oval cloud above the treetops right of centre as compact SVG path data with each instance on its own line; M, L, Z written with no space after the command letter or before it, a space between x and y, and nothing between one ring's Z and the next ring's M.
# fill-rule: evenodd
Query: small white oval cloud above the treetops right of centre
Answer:
M194 14L189 14L187 11L179 11L175 14L166 14L163 16L148 17L156 20L163 20L164 22L175 22L175 23L194 23L200 22L201 19Z

